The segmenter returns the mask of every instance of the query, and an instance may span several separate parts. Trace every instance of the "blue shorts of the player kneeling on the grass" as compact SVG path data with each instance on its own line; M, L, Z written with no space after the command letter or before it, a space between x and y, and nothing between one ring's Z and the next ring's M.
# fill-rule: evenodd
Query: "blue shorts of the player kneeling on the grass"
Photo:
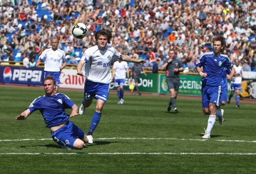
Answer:
M59 145L73 148L76 139L83 140L84 135L85 133L82 129L68 121L66 125L52 132L52 139Z

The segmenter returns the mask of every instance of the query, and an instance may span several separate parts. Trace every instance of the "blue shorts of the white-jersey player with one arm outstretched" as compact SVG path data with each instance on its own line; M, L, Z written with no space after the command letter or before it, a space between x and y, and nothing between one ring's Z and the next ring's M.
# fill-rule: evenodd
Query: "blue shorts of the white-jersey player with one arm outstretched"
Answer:
M85 100L95 98L106 102L108 99L109 88L110 84L85 80L83 98Z

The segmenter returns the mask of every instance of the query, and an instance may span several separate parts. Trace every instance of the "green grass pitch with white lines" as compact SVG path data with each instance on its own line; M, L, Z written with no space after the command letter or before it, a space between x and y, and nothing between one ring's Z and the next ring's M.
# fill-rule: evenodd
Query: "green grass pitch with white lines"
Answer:
M83 92L64 91L80 106ZM177 99L178 114L167 112L169 97L110 94L93 137L83 150L59 148L39 111L25 121L14 118L44 95L43 88L0 87L1 173L255 173L255 104L224 109L203 140L208 117L201 101ZM87 133L95 101L72 119ZM71 110L66 110L70 113ZM238 141L236 141L238 140Z

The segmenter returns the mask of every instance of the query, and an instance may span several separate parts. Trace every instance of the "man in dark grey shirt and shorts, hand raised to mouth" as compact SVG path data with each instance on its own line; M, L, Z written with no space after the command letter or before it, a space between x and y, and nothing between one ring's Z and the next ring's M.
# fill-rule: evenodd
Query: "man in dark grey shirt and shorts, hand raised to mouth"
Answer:
M173 105L174 112L178 113L179 111L176 107L176 98L180 87L180 71L183 71L184 67L182 62L176 59L174 55L174 50L170 50L170 58L165 60L161 68L162 70L166 70L166 82L171 95L171 101L167 110L170 111Z

